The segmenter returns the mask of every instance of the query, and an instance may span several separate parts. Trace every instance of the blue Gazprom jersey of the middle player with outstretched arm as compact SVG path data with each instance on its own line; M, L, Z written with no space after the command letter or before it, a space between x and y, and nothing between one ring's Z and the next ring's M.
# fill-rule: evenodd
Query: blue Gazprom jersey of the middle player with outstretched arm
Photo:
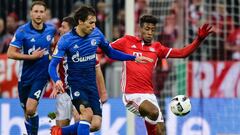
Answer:
M55 58L66 56L66 85L78 85L78 89L91 89L90 87L96 89L95 64L97 47L100 47L108 56L117 60L135 59L135 56L125 55L113 50L98 28L95 28L89 35L84 37L80 37L76 30L73 29L60 38L53 53Z

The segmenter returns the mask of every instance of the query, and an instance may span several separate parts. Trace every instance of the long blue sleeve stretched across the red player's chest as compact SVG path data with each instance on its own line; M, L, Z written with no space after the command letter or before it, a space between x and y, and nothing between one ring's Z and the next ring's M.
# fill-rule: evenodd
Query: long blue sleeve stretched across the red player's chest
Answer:
M101 43L99 47L107 54L107 56L111 59L126 61L126 60L135 60L136 56L129 55L118 50L113 49L109 42L101 35Z

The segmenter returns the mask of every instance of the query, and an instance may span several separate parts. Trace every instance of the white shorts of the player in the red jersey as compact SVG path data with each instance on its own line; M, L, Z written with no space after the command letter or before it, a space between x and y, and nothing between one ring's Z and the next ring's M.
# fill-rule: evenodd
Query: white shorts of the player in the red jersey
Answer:
M140 117L141 117L141 115L139 113L139 106L142 104L143 101L148 100L149 102L154 104L158 108L158 111L159 111L158 119L151 123L155 124L157 122L163 122L162 112L158 105L156 96L154 94L139 94L139 93L138 94L123 94L122 100L123 100L124 105L130 112L132 112ZM148 118L145 118L145 120L149 121Z

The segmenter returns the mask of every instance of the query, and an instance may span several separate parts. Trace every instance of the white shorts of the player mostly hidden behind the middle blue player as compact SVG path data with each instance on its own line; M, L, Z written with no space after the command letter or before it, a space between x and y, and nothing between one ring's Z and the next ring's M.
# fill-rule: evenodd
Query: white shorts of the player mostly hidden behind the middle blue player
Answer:
M72 119L73 105L67 93L58 94L56 97L56 120Z

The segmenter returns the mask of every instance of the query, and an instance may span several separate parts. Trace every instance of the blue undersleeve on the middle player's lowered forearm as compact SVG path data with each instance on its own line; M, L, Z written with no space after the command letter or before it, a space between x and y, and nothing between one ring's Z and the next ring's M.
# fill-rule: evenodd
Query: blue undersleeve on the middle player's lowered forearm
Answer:
M57 65L61 62L61 58L53 57L49 66L48 66L48 73L52 80L56 83L60 78L58 77L57 73Z

